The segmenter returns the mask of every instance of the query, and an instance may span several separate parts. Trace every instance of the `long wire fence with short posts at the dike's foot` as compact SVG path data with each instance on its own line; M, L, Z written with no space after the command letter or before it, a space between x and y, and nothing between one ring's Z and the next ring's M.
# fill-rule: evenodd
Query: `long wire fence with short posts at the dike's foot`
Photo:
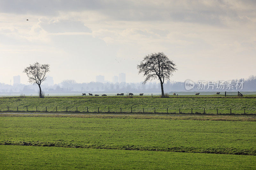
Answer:
M84 107L84 106L11 106L1 112L46 112L46 113L116 113L116 114L191 114L191 115L256 115L252 108L159 108L159 107Z

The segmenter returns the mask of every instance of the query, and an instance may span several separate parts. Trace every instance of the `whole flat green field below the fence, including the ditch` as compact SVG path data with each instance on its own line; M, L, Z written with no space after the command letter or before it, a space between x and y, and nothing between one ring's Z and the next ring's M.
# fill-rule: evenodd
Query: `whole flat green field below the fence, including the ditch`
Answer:
M0 114L0 127L1 169L256 168L254 116Z

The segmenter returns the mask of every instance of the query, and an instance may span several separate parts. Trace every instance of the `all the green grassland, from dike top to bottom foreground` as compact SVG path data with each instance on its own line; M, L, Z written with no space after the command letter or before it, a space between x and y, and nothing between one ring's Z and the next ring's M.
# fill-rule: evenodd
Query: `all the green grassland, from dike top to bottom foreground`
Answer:
M256 114L254 96L0 98L0 112L7 107L104 114L0 114L1 169L256 168L256 117L241 116ZM115 115L120 107L129 115Z

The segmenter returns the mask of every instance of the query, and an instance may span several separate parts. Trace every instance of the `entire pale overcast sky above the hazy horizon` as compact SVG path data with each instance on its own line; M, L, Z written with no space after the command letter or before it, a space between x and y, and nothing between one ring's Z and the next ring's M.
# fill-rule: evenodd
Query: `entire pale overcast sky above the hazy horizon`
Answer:
M21 82L29 64L50 64L54 83L126 73L164 52L174 81L228 80L256 74L256 1L0 0L0 82ZM29 19L27 21L27 19Z

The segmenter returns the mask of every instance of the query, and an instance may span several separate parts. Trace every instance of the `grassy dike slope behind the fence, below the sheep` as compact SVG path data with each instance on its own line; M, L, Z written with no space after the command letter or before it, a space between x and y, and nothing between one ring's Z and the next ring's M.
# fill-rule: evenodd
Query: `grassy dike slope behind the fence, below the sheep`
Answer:
M256 114L256 98L234 97L234 98L216 98L216 97L175 97L175 98L150 98L150 97L99 97L90 98L89 96L81 97L62 97L62 98L0 98L0 111L41 111L45 112L46 107L48 112L78 112L91 113L142 113L143 108L145 113L204 113L206 114Z

